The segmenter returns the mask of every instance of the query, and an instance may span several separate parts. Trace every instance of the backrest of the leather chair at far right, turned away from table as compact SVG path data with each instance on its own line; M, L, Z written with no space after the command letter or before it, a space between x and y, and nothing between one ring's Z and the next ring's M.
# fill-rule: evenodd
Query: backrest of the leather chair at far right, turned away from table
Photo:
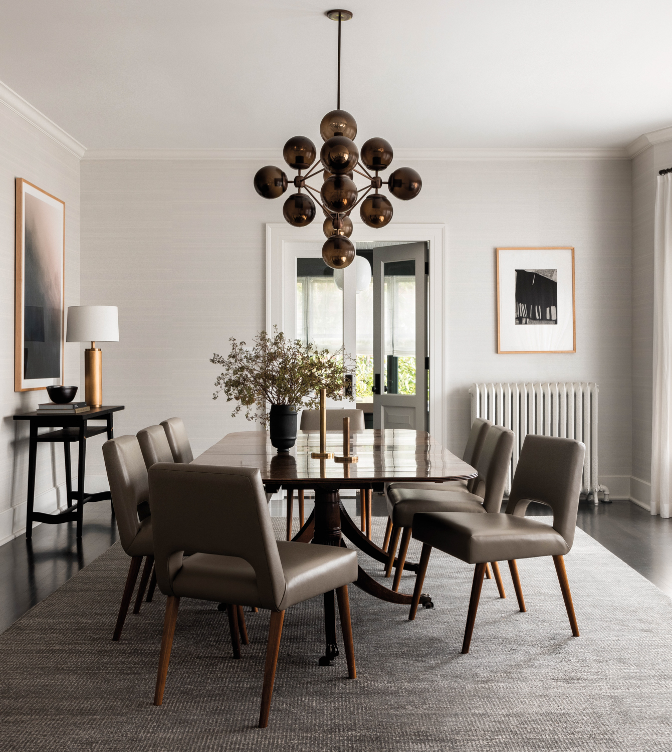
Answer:
M507 514L525 517L530 502L553 511L553 529L571 548L577 527L586 444L574 438L528 435L513 476Z

